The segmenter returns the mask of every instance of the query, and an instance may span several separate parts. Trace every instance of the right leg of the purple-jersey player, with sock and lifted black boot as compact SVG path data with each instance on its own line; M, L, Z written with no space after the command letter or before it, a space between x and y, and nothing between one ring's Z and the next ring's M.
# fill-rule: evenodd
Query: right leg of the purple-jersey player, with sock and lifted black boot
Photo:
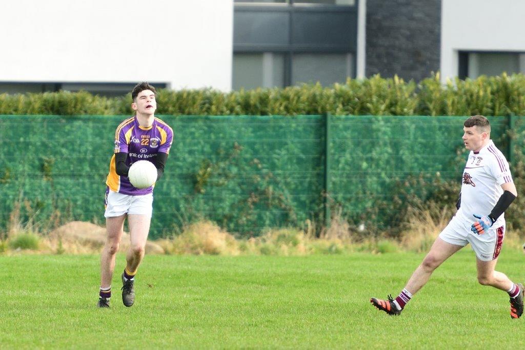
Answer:
M135 301L133 288L135 273L137 273L142 258L144 258L150 222L151 217L148 215L128 215L131 244L126 256L126 268L122 273L122 302L125 306L131 306Z

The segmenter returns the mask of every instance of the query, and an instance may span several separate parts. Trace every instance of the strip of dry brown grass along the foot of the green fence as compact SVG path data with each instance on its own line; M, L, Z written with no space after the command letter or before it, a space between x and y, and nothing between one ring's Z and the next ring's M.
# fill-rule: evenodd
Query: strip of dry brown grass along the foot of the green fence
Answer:
M279 255L301 256L313 253L341 254L356 251L389 253L396 251L426 252L448 224L455 209L428 205L411 208L407 215L406 229L399 240L384 237L366 237L365 232L349 224L335 210L331 225L319 228L313 221L305 222L304 230L297 228L268 229L263 235L249 239L235 239L211 221L199 221L183 228L182 233L170 239L148 241L146 253L168 254L220 254L236 256ZM316 232L320 232L316 237ZM37 250L13 250L12 243L20 235L37 235ZM20 206L9 216L8 230L0 235L0 253L99 253L106 240L106 229L90 222L72 221L55 230L42 232L31 221L20 221ZM506 234L505 245L522 249L522 232L512 230ZM129 235L124 234L120 251L129 247Z

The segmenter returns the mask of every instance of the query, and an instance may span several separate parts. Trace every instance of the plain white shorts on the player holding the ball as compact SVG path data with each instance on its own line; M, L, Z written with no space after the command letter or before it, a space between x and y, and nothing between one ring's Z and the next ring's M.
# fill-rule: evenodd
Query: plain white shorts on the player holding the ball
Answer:
M130 196L107 190L105 204L106 213L104 216L107 218L121 216L122 214L141 214L151 217L153 194Z

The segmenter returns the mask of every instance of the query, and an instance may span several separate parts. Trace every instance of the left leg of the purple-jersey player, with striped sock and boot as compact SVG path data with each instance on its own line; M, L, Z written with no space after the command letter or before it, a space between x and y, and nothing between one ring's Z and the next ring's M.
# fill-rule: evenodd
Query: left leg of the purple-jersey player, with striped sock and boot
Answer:
M126 215L123 214L106 218L108 236L100 255L100 307L108 307L109 305L107 301L109 301L111 296L111 279L115 268L115 257L122 239L125 217Z

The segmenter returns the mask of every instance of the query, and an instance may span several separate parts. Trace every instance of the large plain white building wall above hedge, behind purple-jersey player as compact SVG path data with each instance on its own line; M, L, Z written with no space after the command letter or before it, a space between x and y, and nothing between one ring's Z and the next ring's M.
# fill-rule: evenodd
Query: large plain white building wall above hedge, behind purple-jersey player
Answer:
M0 81L232 86L233 0L2 3Z

